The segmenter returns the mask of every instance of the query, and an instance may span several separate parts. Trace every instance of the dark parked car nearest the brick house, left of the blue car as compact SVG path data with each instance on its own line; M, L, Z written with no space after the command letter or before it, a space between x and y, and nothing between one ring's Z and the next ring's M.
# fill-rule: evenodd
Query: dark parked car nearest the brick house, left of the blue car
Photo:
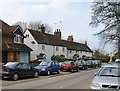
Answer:
M2 67L2 78L18 80L20 77L38 77L38 70L22 62L8 62Z

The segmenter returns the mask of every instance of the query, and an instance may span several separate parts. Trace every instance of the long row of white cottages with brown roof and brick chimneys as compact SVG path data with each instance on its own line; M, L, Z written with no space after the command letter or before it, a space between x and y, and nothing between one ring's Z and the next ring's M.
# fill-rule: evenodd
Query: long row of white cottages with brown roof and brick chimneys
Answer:
M27 29L24 36L24 43L33 50L31 60L35 60L37 55L46 59L51 59L53 55L64 55L68 59L92 57L93 52L87 43L74 42L73 36L68 36L67 40L61 39L60 29L55 30L54 35L48 34L42 24L36 31Z

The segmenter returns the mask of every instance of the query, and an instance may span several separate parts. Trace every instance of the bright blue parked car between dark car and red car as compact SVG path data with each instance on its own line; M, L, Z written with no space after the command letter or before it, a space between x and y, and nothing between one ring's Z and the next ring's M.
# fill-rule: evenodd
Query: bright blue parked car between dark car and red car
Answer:
M39 70L40 74L50 75L53 72L60 73L60 66L57 61L54 60L45 60L42 61L38 66L35 67Z

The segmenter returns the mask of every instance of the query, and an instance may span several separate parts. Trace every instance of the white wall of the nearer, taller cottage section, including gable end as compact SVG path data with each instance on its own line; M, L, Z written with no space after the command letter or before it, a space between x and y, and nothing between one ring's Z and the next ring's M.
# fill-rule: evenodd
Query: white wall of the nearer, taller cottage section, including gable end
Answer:
M24 35L26 36L26 34L29 34L29 37L24 39L24 43L33 50L31 52L31 60L35 60L36 56L39 55L40 53L44 53L46 55L46 59L51 59L51 56L53 55L65 55L65 57L67 57L66 47L64 47L64 51L63 51L62 46L57 46L58 51L56 51L56 46L38 44L31 35L31 33L29 32L29 30L27 30ZM34 41L35 44L32 44L31 43L32 41ZM45 46L45 50L42 50L42 46Z

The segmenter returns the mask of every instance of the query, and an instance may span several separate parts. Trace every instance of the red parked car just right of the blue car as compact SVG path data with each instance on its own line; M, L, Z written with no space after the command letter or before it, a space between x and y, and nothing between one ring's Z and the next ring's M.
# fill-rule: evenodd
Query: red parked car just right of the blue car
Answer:
M76 65L76 63L74 61L65 61L61 65L61 70L74 72L74 71L79 71L79 67Z

